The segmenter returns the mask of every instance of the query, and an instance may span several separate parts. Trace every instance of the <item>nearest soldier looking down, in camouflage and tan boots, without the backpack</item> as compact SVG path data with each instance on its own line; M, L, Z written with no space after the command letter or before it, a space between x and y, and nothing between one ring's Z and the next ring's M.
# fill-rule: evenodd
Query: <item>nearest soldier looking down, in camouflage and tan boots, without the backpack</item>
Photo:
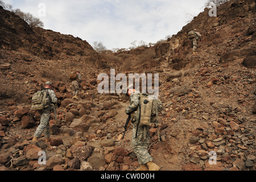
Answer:
M138 126L140 93L135 91L133 85L129 85L127 90L127 94L130 96L130 105L126 108L125 113L132 115L133 133L131 143L140 164L136 171L158 171L160 167L152 162L153 158L147 150L150 144L149 126L146 127L146 133L144 132L144 127ZM146 134L146 137L144 137L144 134Z

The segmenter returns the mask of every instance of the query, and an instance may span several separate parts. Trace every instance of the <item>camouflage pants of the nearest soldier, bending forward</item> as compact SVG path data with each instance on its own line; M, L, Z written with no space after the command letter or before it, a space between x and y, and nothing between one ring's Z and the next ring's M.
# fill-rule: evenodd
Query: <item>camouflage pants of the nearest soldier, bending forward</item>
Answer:
M133 145L133 151L137 155L139 164L143 165L153 160L152 156L147 151L150 144L149 127L146 126L146 138L144 139L144 127L142 126L138 127L137 138L135 138L137 126L138 122L134 122L131 143Z

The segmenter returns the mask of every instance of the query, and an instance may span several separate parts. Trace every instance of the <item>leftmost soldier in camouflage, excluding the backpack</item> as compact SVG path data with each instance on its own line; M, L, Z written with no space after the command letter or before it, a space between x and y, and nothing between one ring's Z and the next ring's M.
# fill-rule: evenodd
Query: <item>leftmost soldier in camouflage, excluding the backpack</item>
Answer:
M51 117L52 107L57 104L57 97L51 87L52 84L49 81L47 81L46 85L44 85L43 92L47 92L46 97L49 97L49 105L44 107L44 109L42 110L40 125L35 131L32 142L37 142L38 138L42 135L43 132L44 137L46 138L46 142L49 142L51 140L51 138L49 138L51 135L49 130L49 119Z

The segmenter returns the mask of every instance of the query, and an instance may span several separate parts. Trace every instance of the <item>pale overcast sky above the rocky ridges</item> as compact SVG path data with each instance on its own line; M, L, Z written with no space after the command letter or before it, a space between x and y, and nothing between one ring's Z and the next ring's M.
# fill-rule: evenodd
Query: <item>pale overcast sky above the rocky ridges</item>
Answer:
M131 42L156 43L177 34L186 14L198 15L207 0L3 0L40 18L44 29L71 34L107 49L129 48Z

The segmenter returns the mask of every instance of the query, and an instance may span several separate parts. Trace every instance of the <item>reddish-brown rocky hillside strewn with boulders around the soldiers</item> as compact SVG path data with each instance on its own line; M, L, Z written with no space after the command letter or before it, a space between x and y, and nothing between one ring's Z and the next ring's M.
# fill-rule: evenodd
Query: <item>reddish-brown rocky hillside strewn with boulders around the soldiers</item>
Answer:
M131 128L121 139L128 98L97 91L98 74L115 68L159 73L160 142L151 126L148 150L162 171L255 170L255 2L229 1L217 17L208 11L154 47L98 55L86 41L31 30L0 9L0 169L136 169ZM197 55L187 38L194 28L203 35ZM68 80L74 69L82 73L79 101L72 99ZM50 142L42 136L32 143L40 115L30 111L31 97L46 80L59 100L57 120L52 114ZM39 151L46 152L46 164L38 163Z

